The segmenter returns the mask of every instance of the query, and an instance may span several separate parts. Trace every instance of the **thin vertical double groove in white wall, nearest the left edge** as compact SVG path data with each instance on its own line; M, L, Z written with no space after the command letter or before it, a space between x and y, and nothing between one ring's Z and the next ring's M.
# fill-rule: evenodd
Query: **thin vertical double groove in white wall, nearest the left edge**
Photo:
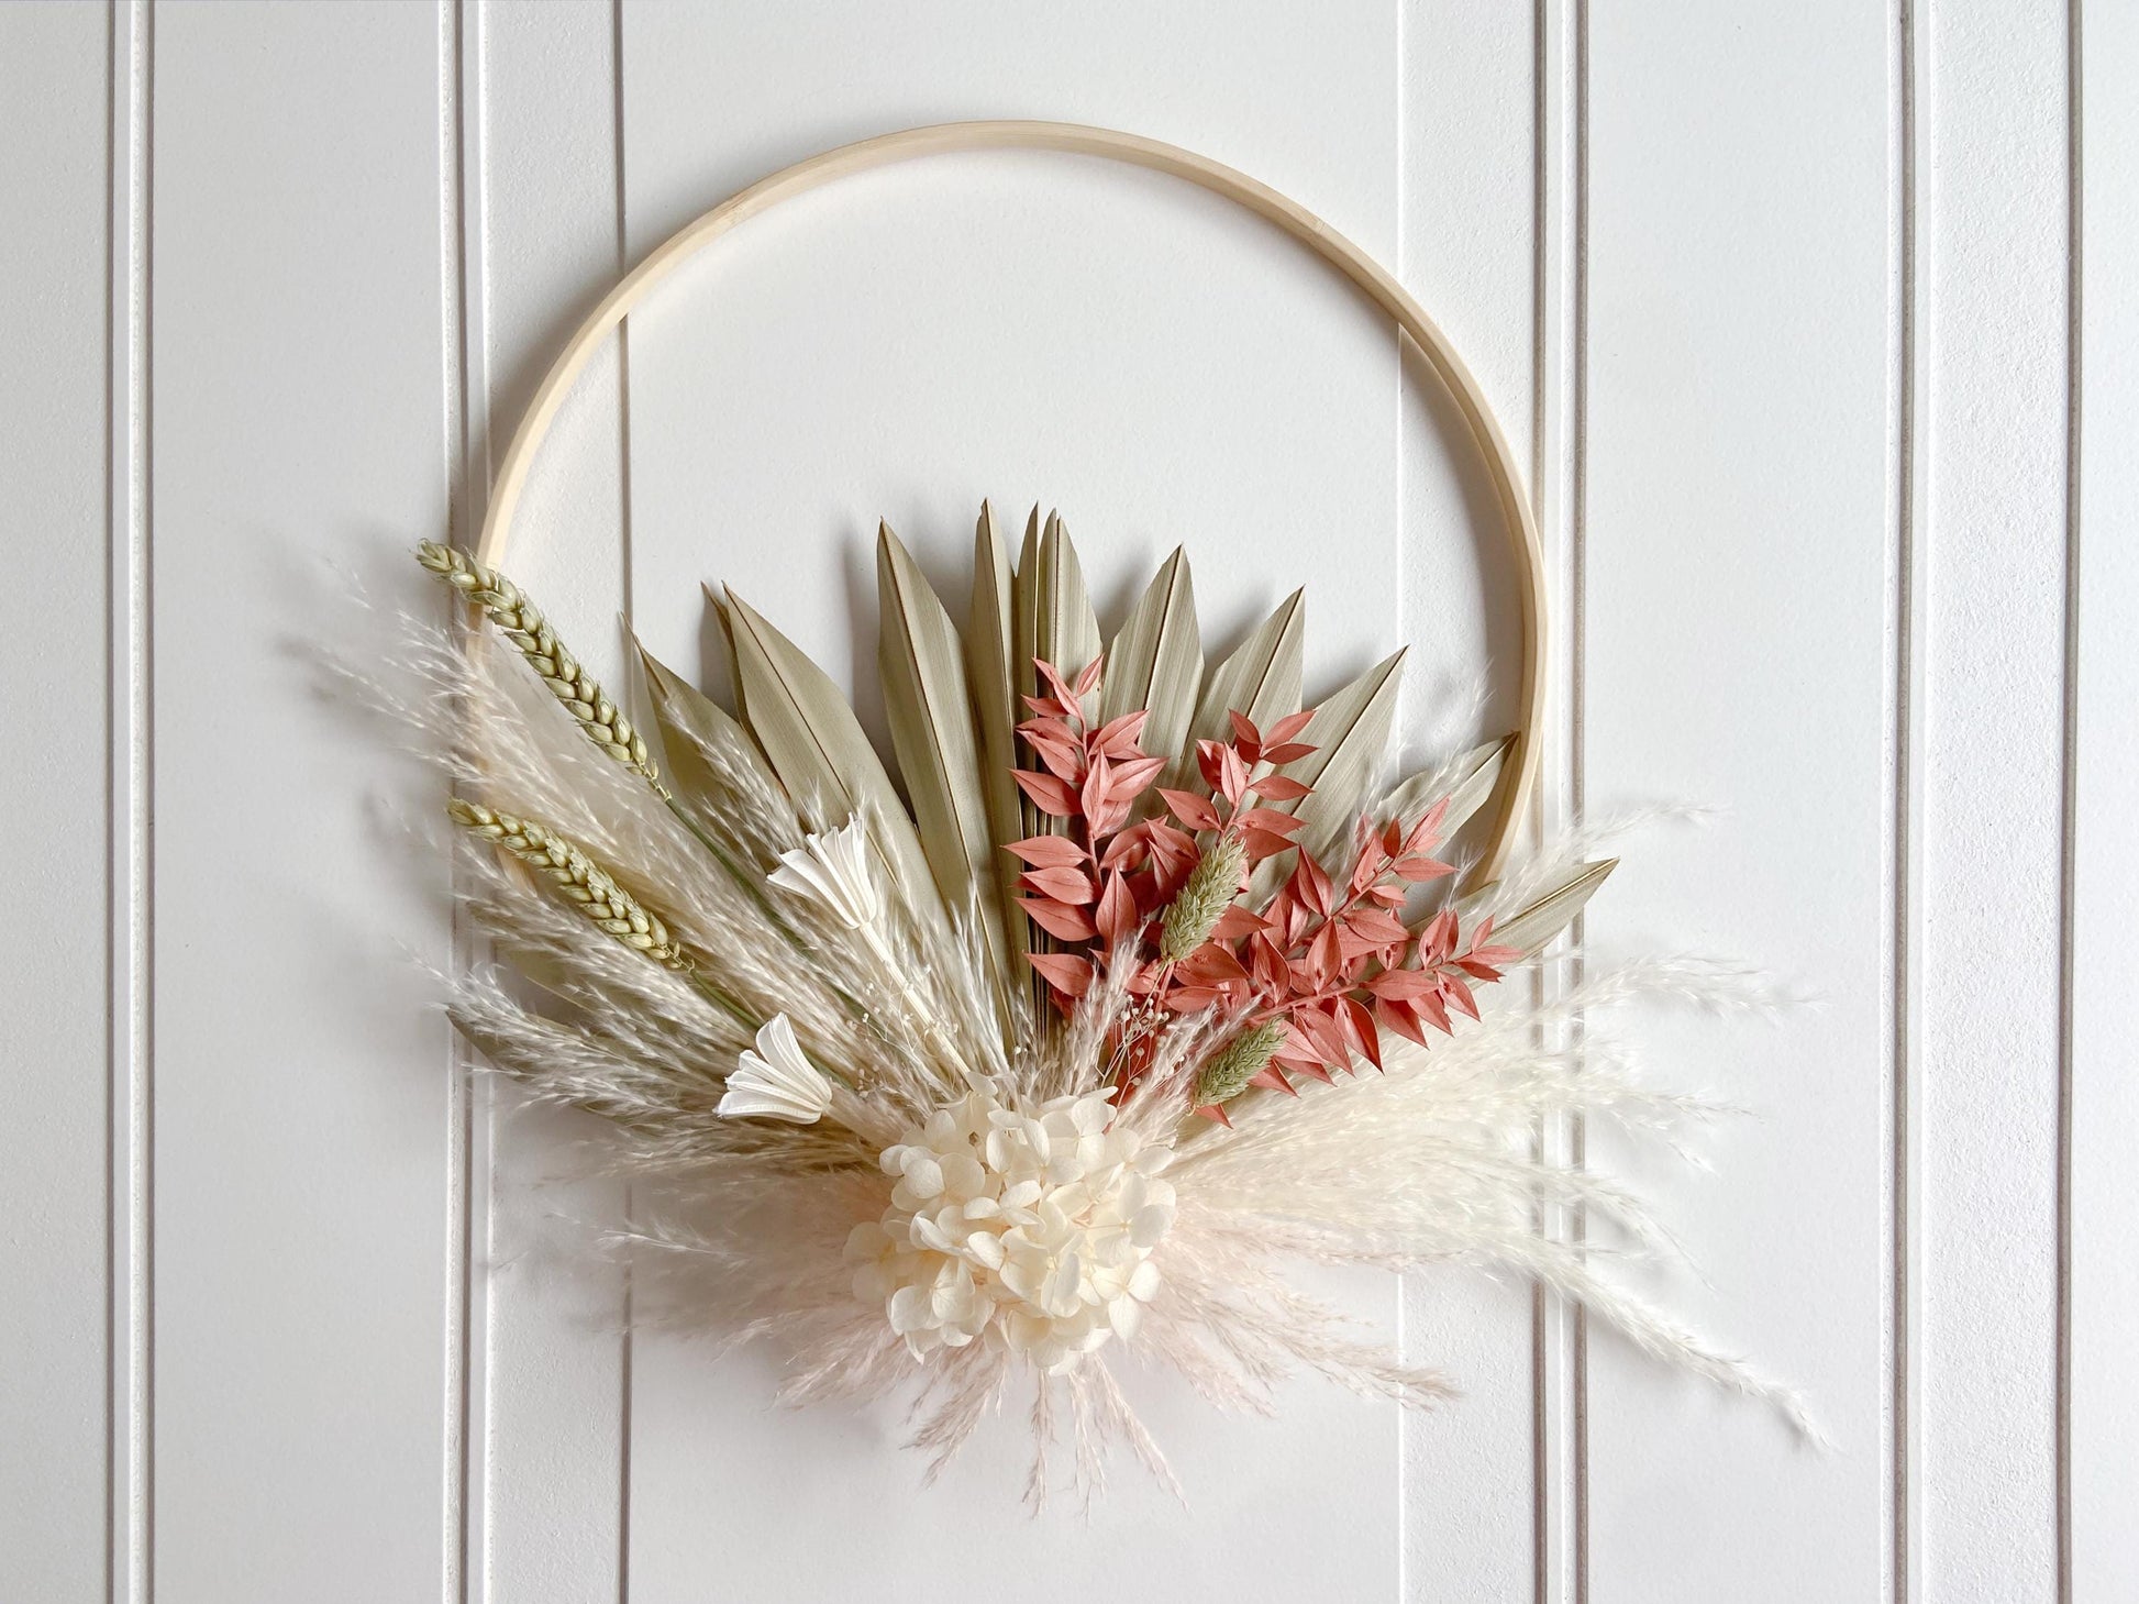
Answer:
M120 49L126 51L124 64ZM109 1298L111 1382L107 1591L152 1604L156 1591L156 1238L154 1238L154 597L152 225L156 36L152 0L111 19L107 633L111 990ZM126 98L118 83L124 75ZM120 169L124 150L124 169ZM122 178L124 173L124 178ZM124 244L122 244L124 242ZM124 284L120 280L124 274ZM124 299L122 299L124 297ZM124 323L120 308L124 306ZM124 413L122 413L124 408ZM122 1281L124 1277L124 1281ZM124 1523L118 1482L124 1478Z

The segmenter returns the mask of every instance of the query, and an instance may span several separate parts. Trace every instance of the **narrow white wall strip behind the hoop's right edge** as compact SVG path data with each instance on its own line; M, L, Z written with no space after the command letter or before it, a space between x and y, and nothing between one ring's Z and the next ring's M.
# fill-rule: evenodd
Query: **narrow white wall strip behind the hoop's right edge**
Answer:
M1517 462L1536 477L1538 19L1514 6L1427 4L1401 24L1395 267L1478 374ZM1476 449L1416 370L1403 387L1399 520L1412 644L1401 723L1410 753L1425 757L1510 727L1521 614ZM1463 1388L1455 1407L1403 1420L1403 1598L1527 1595L1538 1493L1529 1290L1463 1270L1412 1277L1403 1345Z

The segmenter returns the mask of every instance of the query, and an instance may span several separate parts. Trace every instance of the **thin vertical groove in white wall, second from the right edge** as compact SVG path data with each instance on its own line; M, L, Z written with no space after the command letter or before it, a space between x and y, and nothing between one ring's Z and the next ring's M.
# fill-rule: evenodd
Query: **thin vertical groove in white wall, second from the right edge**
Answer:
M1891 712L1891 798L1889 798L1889 1574L1895 1604L1906 1604L1912 1591L1914 1518L1912 1463L1914 1431L1912 1399L1912 1307L1914 1307L1914 1230L1910 1206L1914 1168L1910 1163L1914 1084L1914 954L1917 922L1917 610L1921 584L1917 571L1917 11L1912 0L1895 9L1893 36L1893 556L1891 614L1893 631L1893 712Z

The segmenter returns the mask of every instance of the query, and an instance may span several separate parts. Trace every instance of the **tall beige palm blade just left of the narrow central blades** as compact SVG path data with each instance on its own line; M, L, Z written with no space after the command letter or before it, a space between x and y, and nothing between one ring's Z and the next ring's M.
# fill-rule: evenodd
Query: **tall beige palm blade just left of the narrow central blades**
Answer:
M995 838L958 627L890 524L877 526L877 612L883 710L922 851L943 903L978 907L997 984L1007 984Z

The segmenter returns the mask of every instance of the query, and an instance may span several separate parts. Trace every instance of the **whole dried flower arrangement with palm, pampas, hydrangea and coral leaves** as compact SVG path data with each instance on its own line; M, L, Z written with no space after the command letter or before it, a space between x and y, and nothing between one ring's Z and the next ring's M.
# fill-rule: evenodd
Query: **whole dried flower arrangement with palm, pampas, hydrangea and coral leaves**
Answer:
M642 654L657 764L511 580L419 556L511 646L432 631L430 684L398 704L481 776L451 802L460 883L518 971L456 977L451 1018L533 1097L605 1116L625 1172L672 1183L672 1215L625 1240L659 1249L699 1330L783 1343L785 1399L918 1382L941 1465L1029 1390L1033 1497L1061 1407L1087 1489L1110 1437L1166 1476L1110 1352L1221 1405L1266 1407L1301 1367L1427 1405L1450 1384L1288 1266L1461 1264L1803 1424L1598 1275L1596 1232L1621 1253L1660 1234L1532 1142L1555 1112L1703 1112L1566 1027L1643 992L1728 1001L1733 980L1673 960L1510 986L1613 862L1555 849L1465 885L1435 851L1512 738L1382 789L1401 654L1301 708L1294 595L1206 674L1181 552L1102 644L1037 509L1016 560L982 509L960 631L886 528L901 793L832 680L734 595L734 714ZM1591 1243L1542 1234L1551 1206L1585 1208Z

